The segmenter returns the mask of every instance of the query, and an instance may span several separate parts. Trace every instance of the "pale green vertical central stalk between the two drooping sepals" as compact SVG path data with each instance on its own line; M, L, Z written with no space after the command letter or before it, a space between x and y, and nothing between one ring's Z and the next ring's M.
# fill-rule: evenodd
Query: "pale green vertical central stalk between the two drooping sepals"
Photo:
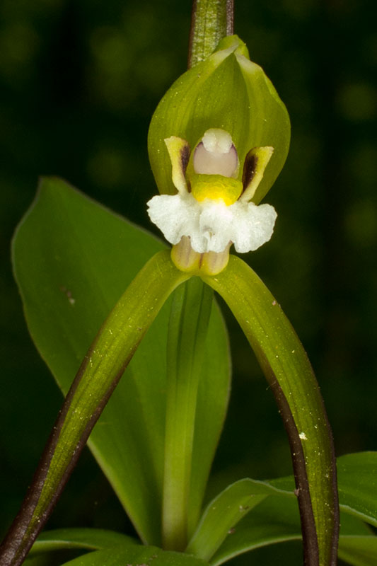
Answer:
M195 277L175 291L170 311L162 516L168 550L185 549L200 511L190 507L192 447L212 299L213 291Z

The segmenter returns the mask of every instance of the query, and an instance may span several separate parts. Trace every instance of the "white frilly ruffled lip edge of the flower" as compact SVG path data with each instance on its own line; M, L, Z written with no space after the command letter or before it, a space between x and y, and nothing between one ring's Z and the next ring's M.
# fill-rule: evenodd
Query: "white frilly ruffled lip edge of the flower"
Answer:
M221 253L228 243L246 253L269 241L277 213L270 204L237 201L231 206L219 200L198 202L192 195L159 195L149 200L149 218L168 242L177 244L190 236L198 253Z

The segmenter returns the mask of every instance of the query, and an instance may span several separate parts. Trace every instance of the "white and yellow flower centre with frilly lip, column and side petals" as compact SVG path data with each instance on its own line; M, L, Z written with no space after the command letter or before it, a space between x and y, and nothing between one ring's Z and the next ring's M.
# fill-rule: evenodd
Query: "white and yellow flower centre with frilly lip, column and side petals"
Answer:
M269 241L277 217L274 207L257 206L250 199L262 179L272 147L249 151L240 181L236 179L238 154L231 135L223 129L204 133L190 163L187 141L173 136L165 142L178 194L153 197L148 202L148 213L170 243L182 242L185 248L190 245L197 254L228 255L232 243L236 251L245 253Z

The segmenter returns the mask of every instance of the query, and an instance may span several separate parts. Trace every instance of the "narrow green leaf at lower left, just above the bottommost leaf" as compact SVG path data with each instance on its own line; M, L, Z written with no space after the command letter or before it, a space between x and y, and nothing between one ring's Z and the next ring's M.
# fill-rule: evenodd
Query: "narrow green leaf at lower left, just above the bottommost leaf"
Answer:
M130 536L105 529L54 529L38 536L30 550L30 555L49 553L67 548L83 548L86 550L102 550L117 545L139 544Z

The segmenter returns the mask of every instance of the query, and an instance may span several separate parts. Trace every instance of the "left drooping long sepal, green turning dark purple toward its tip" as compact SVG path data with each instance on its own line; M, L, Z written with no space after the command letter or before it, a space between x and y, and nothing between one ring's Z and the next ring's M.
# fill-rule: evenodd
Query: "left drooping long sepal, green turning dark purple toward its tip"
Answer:
M23 562L141 338L170 293L188 277L173 265L168 250L157 253L105 320L76 374L33 483L1 545L1 566Z

